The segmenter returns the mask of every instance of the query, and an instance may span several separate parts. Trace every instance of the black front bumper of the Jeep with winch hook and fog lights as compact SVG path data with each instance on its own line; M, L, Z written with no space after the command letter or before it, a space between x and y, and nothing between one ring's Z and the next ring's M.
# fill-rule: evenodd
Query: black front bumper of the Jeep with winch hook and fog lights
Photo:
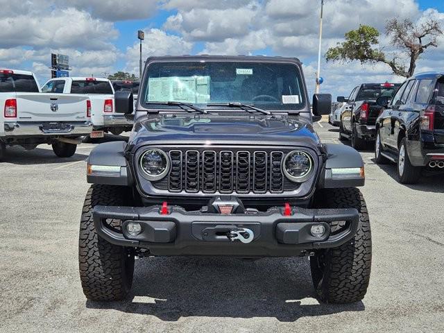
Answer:
M284 210L279 207L243 214L186 212L178 206L169 207L168 214L160 212L161 207L157 205L96 206L94 227L112 244L146 248L152 255L292 257L305 251L341 246L352 239L359 224L355 209L295 207L290 216L284 216ZM121 220L121 230L111 228L107 219ZM332 231L330 225L335 221L344 221L343 228ZM142 231L136 236L126 228L131 222L142 225ZM323 225L325 234L314 237L310 232L312 225ZM253 240L248 244L232 241L227 232L239 228L253 232Z

